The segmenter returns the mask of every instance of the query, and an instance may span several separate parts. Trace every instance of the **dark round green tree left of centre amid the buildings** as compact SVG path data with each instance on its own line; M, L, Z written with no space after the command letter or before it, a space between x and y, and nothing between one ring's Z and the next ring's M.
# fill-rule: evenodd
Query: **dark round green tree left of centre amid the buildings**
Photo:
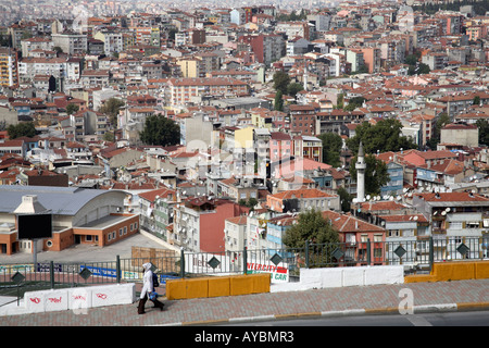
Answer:
M175 121L161 115L146 119L145 129L139 138L146 145L171 146L180 142L180 127Z

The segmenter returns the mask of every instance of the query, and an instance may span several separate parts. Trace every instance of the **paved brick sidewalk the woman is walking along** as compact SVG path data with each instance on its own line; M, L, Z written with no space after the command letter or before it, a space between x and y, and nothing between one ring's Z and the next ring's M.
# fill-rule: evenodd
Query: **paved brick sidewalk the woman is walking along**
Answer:
M160 288L164 291L164 288ZM412 295L412 297L406 297ZM355 286L168 301L165 310L137 314L137 302L73 311L0 316L1 326L185 326L319 315L399 313L412 298L414 313L489 309L489 279ZM22 304L22 303L21 303ZM16 306L16 302L9 306ZM0 308L1 309L1 308Z

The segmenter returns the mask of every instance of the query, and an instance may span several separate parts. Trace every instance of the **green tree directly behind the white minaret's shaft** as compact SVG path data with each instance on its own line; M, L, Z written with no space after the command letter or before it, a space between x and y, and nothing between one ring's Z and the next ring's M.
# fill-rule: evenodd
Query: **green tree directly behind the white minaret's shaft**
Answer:
M356 164L358 157L355 156L351 160L350 174L351 177L356 178ZM365 194L366 195L380 195L380 188L389 183L390 177L387 173L387 164L378 160L374 154L365 156Z

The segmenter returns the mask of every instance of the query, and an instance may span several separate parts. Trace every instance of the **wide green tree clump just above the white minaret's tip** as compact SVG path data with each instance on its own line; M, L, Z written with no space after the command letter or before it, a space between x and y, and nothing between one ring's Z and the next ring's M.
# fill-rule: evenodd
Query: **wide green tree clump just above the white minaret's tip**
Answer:
M401 122L394 119L381 120L376 125L364 122L356 127L355 136L347 139L347 146L353 153L359 151L360 141L363 142L365 153L417 148L411 138L401 134Z

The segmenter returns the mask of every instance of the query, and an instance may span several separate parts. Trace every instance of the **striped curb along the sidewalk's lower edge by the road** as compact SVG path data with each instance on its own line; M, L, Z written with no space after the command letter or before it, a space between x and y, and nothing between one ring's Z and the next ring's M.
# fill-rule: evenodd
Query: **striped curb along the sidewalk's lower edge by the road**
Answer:
M401 314L399 308L375 308L375 309L350 309L344 311L324 311L324 312L305 312L294 314L271 314L260 316L241 316L223 320L209 320L197 322L178 322L154 326L199 326L199 325L226 325L238 323L251 323L263 321L280 321L291 319L306 319L306 318L335 318L335 316L355 316L355 315L410 315L421 313L440 313L440 312L456 312L469 310L488 310L489 302L463 302L463 303L439 303L439 304L419 304L412 308L412 313Z

